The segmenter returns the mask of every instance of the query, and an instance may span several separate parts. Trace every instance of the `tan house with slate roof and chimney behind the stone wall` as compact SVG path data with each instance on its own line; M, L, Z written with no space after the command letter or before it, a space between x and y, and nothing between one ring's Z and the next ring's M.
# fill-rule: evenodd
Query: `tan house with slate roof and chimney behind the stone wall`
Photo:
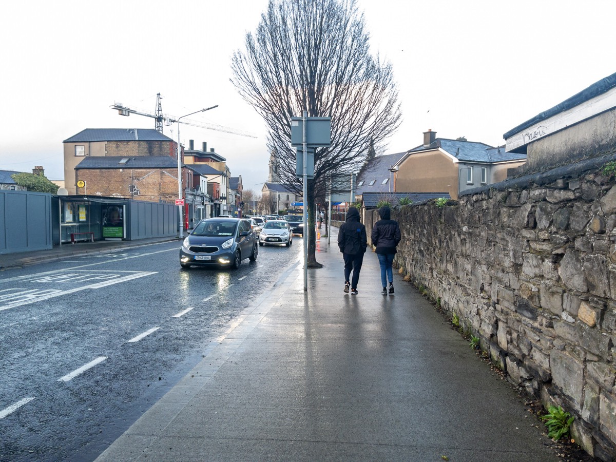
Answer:
M526 161L525 153L458 139L437 138L424 132L422 145L408 150L392 165L395 191L442 192L453 199L460 192L506 179L509 169Z

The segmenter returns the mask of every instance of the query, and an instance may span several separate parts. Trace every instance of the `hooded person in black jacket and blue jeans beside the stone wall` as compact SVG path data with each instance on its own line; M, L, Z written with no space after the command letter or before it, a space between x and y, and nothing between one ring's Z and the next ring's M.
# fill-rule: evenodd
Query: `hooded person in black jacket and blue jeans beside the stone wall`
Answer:
M389 278L389 293L394 293L394 273L391 265L394 262L395 248L400 242L400 226L391 219L391 209L384 205L379 208L381 219L375 223L370 238L376 246L376 256L381 264L381 294L387 295L387 278Z

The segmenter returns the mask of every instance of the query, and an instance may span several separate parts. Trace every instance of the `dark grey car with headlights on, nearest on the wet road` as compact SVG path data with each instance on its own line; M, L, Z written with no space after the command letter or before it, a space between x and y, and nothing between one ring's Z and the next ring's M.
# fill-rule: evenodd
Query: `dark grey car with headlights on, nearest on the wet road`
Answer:
M257 259L257 242L249 220L207 218L198 222L182 242L180 265L237 268L245 258Z

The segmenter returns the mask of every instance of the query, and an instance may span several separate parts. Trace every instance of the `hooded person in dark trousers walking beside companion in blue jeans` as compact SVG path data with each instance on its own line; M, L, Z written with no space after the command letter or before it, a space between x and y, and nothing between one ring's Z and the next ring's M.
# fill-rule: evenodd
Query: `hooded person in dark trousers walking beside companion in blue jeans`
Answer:
M344 258L344 291L348 292L351 286L351 295L357 295L359 272L362 270L363 254L367 246L366 227L359 221L359 210L351 207L346 222L342 223L338 232L338 247Z

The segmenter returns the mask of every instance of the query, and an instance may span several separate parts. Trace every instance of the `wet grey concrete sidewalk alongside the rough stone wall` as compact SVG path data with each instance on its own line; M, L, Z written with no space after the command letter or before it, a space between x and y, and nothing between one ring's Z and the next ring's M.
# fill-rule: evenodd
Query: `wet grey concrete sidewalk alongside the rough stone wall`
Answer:
M558 460L516 392L376 254L342 291L333 230L98 461ZM299 243L299 240L298 240Z

